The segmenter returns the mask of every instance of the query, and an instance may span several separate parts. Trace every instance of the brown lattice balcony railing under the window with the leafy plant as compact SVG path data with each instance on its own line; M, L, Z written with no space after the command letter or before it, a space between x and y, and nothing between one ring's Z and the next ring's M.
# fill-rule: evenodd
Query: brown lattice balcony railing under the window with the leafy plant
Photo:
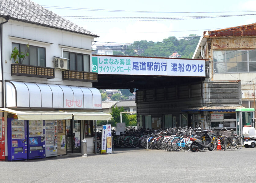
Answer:
M54 68L13 63L11 64L11 75L43 77L43 78L49 79L49 78L54 78Z

